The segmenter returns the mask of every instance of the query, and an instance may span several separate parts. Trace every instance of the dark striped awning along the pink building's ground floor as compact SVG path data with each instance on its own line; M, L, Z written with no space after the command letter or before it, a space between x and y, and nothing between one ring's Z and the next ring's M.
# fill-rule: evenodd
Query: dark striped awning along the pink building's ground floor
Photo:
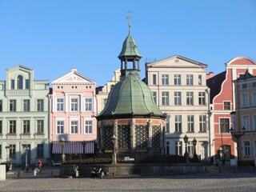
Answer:
M64 154L83 154L82 142L65 142L63 146ZM86 142L86 154L94 154L94 142ZM62 154L61 142L52 142L52 154Z

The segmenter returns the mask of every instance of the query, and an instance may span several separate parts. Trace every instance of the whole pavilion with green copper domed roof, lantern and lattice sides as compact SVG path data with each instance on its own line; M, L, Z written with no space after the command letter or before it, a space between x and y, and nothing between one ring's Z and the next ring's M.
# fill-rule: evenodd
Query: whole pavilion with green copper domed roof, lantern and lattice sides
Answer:
M113 86L105 108L96 116L98 152L105 154L115 150L118 155L128 156L129 153L163 154L166 115L158 110L150 88L140 79L142 55L130 35L130 25L118 58L121 61L120 82ZM116 140L114 145L112 138ZM116 161L113 156L113 162Z

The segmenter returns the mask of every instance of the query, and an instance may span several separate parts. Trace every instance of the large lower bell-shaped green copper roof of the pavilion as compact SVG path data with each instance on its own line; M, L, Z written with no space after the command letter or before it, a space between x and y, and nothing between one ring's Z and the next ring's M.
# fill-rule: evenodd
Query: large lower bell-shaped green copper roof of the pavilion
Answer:
M164 114L154 103L151 90L139 78L138 71L131 70L123 81L110 91L106 106L98 118L118 116L158 116Z

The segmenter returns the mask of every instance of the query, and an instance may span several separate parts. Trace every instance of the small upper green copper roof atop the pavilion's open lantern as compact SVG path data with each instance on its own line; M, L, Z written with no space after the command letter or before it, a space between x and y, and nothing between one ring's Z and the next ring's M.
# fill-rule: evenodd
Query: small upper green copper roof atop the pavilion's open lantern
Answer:
M138 52L138 46L135 42L134 38L130 35L126 38L126 40L122 44L122 51L119 54L118 58L123 57L133 57L137 56L138 58L142 58L142 55Z

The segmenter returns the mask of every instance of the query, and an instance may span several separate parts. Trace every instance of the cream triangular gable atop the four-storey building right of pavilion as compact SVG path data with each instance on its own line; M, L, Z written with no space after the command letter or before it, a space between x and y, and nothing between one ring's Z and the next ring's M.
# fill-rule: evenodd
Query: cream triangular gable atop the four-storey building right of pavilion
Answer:
M157 62L148 62L146 63L147 67L150 66L158 66L158 67L168 67L168 66L175 66L175 67L180 67L180 68L186 68L186 67L203 67L206 68L207 65L203 64L202 62L196 62L190 58L184 58L178 54L169 57L169 58L164 58L161 59Z

